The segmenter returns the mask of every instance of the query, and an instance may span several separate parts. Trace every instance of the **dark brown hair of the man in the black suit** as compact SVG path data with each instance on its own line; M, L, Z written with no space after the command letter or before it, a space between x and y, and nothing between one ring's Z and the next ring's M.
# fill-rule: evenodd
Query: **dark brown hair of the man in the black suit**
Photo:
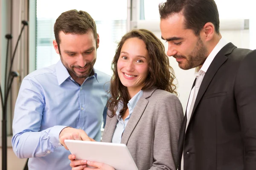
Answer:
M159 4L161 19L180 12L185 17L185 28L192 29L195 35L199 35L206 23L212 23L219 34L219 14L214 0L167 0Z

